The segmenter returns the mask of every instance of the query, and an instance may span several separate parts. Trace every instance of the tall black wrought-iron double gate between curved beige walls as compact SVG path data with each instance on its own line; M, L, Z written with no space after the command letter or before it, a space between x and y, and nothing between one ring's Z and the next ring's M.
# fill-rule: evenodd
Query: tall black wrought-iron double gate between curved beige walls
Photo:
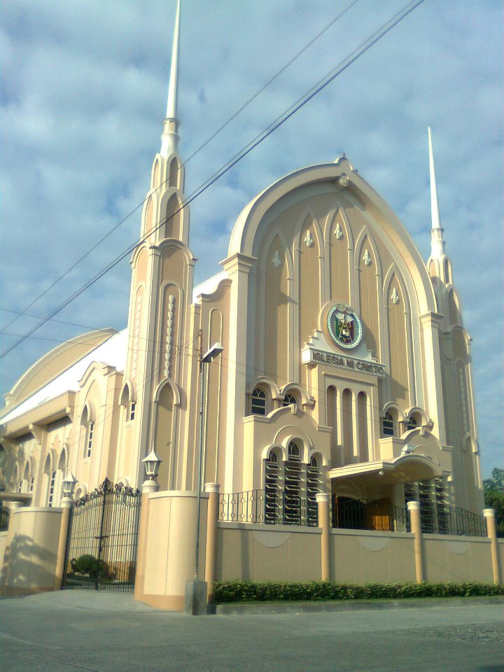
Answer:
M64 588L133 590L140 504L139 490L108 478L73 504Z

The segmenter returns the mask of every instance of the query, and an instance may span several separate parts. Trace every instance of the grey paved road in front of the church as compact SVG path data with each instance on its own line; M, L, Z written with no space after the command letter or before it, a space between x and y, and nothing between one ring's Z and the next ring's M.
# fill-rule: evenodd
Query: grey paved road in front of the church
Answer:
M503 605L190 617L130 594L0 601L2 672L498 672Z

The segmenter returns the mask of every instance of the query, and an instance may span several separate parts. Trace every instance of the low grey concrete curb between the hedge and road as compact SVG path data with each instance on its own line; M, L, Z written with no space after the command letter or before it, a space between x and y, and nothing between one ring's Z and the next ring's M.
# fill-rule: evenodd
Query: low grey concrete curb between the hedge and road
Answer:
M274 614L304 614L318 612L375 611L383 609L410 609L426 607L466 607L472 604L504 604L503 595L474 597L415 597L400 600L355 600L327 602L274 602L255 604L218 604L218 616L251 616Z

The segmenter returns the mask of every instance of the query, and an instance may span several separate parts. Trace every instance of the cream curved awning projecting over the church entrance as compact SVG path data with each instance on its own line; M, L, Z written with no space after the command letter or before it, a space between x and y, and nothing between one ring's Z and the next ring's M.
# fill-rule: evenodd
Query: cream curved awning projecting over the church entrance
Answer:
M329 472L332 481L351 479L363 486L411 483L440 476L442 476L440 465L423 455L401 455L390 460L347 464Z

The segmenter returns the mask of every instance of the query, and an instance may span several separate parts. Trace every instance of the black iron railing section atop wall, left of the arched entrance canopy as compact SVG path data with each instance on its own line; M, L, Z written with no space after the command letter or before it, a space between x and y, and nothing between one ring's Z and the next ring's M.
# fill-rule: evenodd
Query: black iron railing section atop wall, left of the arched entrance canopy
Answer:
M316 500L271 490L248 490L222 494L218 519L267 525L318 525Z

